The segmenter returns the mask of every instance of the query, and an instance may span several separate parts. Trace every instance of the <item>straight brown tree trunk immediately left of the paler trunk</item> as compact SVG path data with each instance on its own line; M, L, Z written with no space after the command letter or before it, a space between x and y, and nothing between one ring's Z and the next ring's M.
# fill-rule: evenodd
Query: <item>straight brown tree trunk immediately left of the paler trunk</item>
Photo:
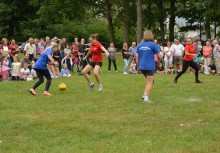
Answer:
M124 0L125 18L124 18L124 42L128 42L129 37L129 0Z

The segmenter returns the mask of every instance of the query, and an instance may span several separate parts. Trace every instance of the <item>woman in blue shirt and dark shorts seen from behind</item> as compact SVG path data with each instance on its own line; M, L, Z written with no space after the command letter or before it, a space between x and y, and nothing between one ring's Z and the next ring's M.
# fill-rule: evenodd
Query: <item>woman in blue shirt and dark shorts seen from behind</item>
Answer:
M143 42L137 47L136 63L138 64L139 70L142 72L144 77L147 79L147 84L144 92L144 102L151 102L149 100L150 91L153 86L155 63L154 55L156 54L160 58L160 50L157 45L153 42L154 36L150 30L144 32Z

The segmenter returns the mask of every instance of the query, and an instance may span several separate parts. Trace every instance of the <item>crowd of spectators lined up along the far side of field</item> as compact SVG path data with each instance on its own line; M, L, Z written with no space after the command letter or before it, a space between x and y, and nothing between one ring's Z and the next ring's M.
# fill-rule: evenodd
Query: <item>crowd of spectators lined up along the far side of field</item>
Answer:
M24 56L19 59L19 46L16 41L12 39L10 42L3 38L0 45L0 79L2 81L8 80L26 80L31 81L37 78L37 73L33 69L35 63L39 59L45 49L51 44L58 44L58 51L54 52L52 57L58 63L58 66L48 65L48 69L52 78L70 77L73 72L82 75L82 70L90 63L92 55L88 57L87 53L90 51L90 45L86 44L85 39L74 39L72 45L67 43L66 38L58 39L56 36L51 39L43 38L29 38L24 47ZM179 39L174 42L167 41L159 45L157 40L154 40L160 51L160 57L155 55L155 73L158 74L174 74L180 73L183 69L183 57L185 54L185 43L181 44ZM199 72L204 74L220 75L220 46L219 39L207 40L202 42L199 40L193 41L195 46L194 62L199 67ZM118 71L116 63L117 49L114 43L110 43L109 48L106 48L108 56L108 71L111 72L111 65L113 63L115 72ZM132 42L129 47L128 43L124 43L122 50L122 59L124 61L123 74L138 74L140 73L135 60L137 52L137 43ZM85 58L86 57L86 58ZM117 58L119 56L117 55ZM101 67L101 66L100 66ZM191 73L194 72L190 69Z

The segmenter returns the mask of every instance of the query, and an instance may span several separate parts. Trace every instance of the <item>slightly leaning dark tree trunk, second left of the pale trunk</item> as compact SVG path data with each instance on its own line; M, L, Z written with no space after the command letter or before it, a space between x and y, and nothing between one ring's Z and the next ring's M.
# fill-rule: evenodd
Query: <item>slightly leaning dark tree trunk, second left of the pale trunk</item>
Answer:
M107 3L107 19L108 19L108 28L110 33L110 41L115 42L114 26L112 21L112 4L110 0L106 0L106 3Z

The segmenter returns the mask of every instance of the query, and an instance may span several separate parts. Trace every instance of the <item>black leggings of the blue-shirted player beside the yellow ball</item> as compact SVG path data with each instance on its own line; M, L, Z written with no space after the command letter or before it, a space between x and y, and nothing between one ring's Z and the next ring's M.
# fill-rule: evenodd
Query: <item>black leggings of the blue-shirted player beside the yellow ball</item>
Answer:
M45 91L49 91L50 85L51 85L51 76L48 69L46 70L40 70L40 69L34 69L37 73L37 77L39 78L39 81L35 83L33 86L33 89L35 90L37 87L39 87L44 82L44 77L47 79Z

